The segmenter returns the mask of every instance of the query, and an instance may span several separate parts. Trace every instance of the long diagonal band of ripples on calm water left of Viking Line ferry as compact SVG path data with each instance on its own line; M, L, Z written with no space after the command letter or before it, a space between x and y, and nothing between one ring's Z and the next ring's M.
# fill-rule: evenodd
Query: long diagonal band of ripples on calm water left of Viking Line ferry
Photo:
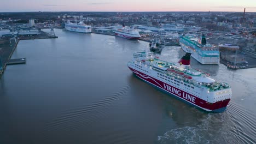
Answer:
M119 91L104 97L101 100L95 101L90 105L79 106L74 109L67 110L65 113L54 119L51 123L46 126L43 131L45 135L48 131L69 131L76 130L85 125L90 125L91 122L101 121L100 117L107 116L107 111L110 109L111 104L114 101L122 97L129 89L131 85L124 86Z

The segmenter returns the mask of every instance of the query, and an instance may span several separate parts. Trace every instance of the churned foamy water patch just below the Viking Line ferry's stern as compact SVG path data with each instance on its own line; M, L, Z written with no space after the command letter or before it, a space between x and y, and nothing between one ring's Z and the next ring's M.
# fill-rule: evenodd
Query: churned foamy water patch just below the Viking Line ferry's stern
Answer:
M221 113L208 113L201 122L197 122L199 124L172 129L158 136L158 143L235 143L227 133L225 116Z

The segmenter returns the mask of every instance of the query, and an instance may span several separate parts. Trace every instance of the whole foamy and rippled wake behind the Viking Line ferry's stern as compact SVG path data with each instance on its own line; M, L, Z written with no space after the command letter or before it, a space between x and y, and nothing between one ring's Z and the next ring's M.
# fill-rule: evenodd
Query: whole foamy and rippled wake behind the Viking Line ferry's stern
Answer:
M208 113L197 124L169 130L158 136L158 143L255 143L255 115L234 103L228 108Z

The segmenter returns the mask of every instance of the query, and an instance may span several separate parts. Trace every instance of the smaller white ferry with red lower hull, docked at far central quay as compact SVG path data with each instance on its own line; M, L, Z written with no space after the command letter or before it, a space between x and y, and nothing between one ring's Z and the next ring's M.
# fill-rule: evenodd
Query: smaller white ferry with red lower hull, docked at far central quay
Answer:
M117 29L115 31L115 35L118 37L126 38L126 39L139 39L141 35L139 35L138 29L132 29L129 27L125 27L123 24L123 28Z

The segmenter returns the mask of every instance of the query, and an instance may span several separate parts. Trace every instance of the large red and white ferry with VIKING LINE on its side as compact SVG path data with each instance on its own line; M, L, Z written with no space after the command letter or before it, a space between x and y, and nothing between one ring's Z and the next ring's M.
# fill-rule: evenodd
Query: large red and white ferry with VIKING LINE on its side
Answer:
M127 67L140 79L188 104L205 111L224 111L232 95L230 85L190 68L190 55L186 53L178 63L171 63L154 57L152 52L136 52Z

